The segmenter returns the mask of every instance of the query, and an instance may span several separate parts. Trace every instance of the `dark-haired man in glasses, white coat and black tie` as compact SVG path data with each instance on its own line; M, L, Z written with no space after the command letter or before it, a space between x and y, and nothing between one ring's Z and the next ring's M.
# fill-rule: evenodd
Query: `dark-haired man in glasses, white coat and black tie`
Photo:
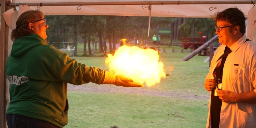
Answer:
M215 13L221 44L204 87L210 92L206 128L256 127L256 44L245 37L245 17L232 7Z

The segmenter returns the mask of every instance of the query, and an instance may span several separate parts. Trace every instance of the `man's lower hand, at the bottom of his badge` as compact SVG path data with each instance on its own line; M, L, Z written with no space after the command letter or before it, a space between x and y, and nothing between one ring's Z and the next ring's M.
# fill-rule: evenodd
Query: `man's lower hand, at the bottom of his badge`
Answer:
M236 98L235 98L235 94L234 92L230 92L227 90L217 90L217 96L219 96L220 100L222 100L222 102L226 102L226 103L231 103L231 102L235 102Z

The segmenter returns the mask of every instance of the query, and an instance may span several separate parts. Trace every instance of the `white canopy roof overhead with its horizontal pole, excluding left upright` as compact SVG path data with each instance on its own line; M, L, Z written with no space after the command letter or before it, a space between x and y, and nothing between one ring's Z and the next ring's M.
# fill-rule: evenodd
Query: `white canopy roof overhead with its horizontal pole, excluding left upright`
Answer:
M247 16L253 2L255 0L13 0L11 5L28 5L30 9L40 9L45 15L149 16L148 8L142 6L151 4L153 17L210 17L214 12L234 6Z

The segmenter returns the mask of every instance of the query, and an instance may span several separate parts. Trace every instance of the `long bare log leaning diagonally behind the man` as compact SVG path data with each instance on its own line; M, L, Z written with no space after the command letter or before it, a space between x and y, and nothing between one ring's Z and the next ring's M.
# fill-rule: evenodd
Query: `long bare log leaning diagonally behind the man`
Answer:
M210 44L212 44L215 40L218 39L218 35L215 35L214 37L212 37L209 41L207 41L206 43L204 43L202 46L200 46L198 49L196 49L194 52L190 53L188 56L186 56L185 58L183 58L180 61L187 61L190 58L192 58L193 56L195 56L197 53L201 52L203 49L205 49L207 46L209 46Z

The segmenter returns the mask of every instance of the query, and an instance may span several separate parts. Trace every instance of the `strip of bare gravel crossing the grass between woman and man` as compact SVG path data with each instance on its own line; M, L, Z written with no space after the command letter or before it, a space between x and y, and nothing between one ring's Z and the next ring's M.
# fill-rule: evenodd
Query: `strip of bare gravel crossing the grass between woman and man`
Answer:
M110 93L131 93L138 95L153 95L153 96L163 96L163 97L182 97L183 99L209 99L208 95L191 95L187 92L178 94L174 91L165 91L159 87L160 85L155 86L145 86L143 88L125 88L118 87L116 85L98 85L94 83L88 83L83 85L73 85L68 84L68 91L77 91L77 92L110 92Z

